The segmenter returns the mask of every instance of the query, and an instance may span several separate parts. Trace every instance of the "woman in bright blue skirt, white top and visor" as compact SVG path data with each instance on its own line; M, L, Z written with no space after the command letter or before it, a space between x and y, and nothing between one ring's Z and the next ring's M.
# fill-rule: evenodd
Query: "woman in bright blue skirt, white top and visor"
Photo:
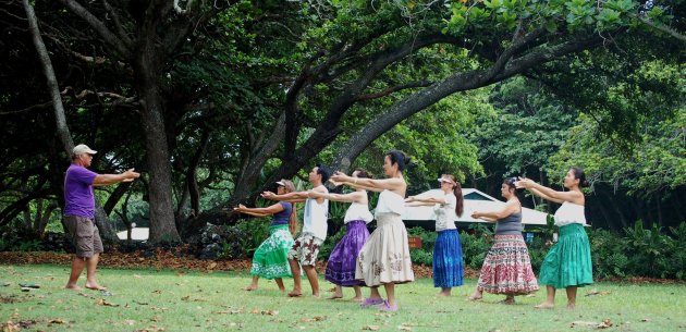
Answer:
M438 181L443 192L439 197L411 196L405 201L408 206L433 206L438 232L433 247L433 286L441 288L439 296L450 296L452 287L463 284L462 244L455 219L462 217L464 199L454 175L443 174Z

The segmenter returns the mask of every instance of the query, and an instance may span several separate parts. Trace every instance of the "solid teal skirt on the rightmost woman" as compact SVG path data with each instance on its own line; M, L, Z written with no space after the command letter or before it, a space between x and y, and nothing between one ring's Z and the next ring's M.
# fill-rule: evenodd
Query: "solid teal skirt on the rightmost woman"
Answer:
M590 244L584 225L573 223L560 228L560 241L546 255L538 283L555 288L593 283Z

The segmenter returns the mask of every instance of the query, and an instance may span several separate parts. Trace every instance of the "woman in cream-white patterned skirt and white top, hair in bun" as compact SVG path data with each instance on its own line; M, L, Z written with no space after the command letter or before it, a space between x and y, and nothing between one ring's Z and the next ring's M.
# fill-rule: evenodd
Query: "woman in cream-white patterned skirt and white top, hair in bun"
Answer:
M395 284L415 280L407 231L401 219L407 189L403 170L408 162L409 158L403 152L390 151L383 160L383 172L388 179L358 179L340 172L331 176L332 181L354 188L381 192L375 211L377 229L359 251L355 270L355 279L363 280L371 287L371 294L363 302L363 307L378 306L381 310L397 310ZM385 300L379 294L380 285L385 290Z

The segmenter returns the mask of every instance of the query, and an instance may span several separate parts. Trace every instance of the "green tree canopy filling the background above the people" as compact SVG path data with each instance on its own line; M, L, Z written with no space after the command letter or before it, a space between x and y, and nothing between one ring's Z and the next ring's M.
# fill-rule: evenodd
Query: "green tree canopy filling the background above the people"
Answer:
M26 13L5 2L0 225L37 199L61 200L69 150ZM678 139L667 139L669 148L641 135L683 127L675 114L684 110L684 1L60 0L33 8L68 136L100 151L96 171L144 173L99 204L109 214L126 190L139 193L154 243L226 222L236 202L317 162L377 168L391 148L417 161L416 185L439 172L476 181L495 168L555 168L572 158L564 153L574 139L590 137L608 139L605 151L652 140L674 157L670 172L683 164ZM550 163L559 148L564 162ZM573 157L592 160L591 152ZM500 161L489 164L488 156ZM203 200L217 192L220 199Z

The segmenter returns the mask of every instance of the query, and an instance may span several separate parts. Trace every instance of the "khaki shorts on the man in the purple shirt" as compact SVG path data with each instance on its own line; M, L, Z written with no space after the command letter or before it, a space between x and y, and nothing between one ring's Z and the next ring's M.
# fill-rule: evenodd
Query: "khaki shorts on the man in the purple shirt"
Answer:
M64 223L69 231L69 239L74 246L77 257L90 258L102 253L102 239L95 221L77 216L65 216Z

